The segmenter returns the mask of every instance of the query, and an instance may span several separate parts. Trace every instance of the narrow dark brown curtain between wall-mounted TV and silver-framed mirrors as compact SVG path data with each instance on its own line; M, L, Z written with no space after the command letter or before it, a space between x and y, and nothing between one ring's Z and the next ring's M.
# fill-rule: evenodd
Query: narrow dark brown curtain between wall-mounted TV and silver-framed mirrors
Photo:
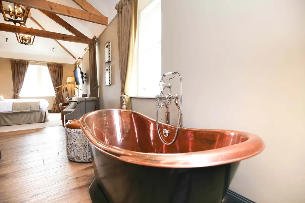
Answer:
M97 84L97 69L96 69L96 46L95 36L89 42L89 82L90 82L90 97L98 96L98 84ZM98 102L96 102L95 110L98 109Z

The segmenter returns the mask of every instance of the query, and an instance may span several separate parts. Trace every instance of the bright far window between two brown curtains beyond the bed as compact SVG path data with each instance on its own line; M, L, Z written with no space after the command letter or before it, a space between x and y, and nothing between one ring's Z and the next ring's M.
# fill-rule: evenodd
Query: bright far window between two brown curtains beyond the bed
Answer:
M55 91L47 66L29 65L20 97L54 97Z

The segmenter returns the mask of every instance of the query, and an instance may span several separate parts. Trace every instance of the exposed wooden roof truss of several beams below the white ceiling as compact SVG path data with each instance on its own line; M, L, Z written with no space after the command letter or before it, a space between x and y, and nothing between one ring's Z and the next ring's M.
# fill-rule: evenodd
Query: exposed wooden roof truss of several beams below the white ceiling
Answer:
M90 39L56 14L69 16L72 18L80 19L80 20L86 20L89 22L98 23L98 24L102 24L102 25L108 25L108 17L103 16L102 13L100 13L97 9L95 9L86 0L72 0L72 1L75 2L77 5L79 5L83 10L75 9L75 8L72 8L72 7L69 7L66 5L57 4L54 2L49 2L46 0L5 0L5 2L10 2L10 3L14 3L14 4L18 5L18 7L20 7L20 5L24 6L24 9L22 7L20 7L24 12L24 18L23 18L22 22L20 22L19 24L25 26L27 18L30 18L42 30L0 23L0 31L29 34L29 35L38 36L38 37L51 38L54 41L56 41L56 43L59 44L59 46L61 46L69 55L71 55L74 59L76 59L63 45L61 45L59 43L58 40L88 44ZM60 34L60 33L49 32L49 31L45 30L45 28L42 27L31 16L31 14L30 14L31 8L40 10L42 13L44 13L50 19L52 19L53 21L55 21L56 23L58 23L59 25L64 27L66 30L68 30L73 35ZM2 12L4 20L6 22L10 21L10 20L8 20L8 17L5 15L5 14L9 14L9 11L4 10L1 0L0 0L0 12Z

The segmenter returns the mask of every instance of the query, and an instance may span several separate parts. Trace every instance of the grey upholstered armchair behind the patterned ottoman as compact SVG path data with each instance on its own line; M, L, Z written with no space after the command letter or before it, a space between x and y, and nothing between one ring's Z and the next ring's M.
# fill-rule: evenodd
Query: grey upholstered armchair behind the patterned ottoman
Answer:
M78 119L84 116L86 113L95 110L96 97L91 98L77 98L77 102L71 102L66 109L62 110L65 122L68 120Z

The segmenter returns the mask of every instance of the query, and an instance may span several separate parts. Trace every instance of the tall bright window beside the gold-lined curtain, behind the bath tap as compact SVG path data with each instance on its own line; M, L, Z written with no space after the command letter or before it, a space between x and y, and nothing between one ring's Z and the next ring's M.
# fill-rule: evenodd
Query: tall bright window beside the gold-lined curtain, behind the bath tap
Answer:
M152 1L140 12L138 96L160 93L161 0Z

